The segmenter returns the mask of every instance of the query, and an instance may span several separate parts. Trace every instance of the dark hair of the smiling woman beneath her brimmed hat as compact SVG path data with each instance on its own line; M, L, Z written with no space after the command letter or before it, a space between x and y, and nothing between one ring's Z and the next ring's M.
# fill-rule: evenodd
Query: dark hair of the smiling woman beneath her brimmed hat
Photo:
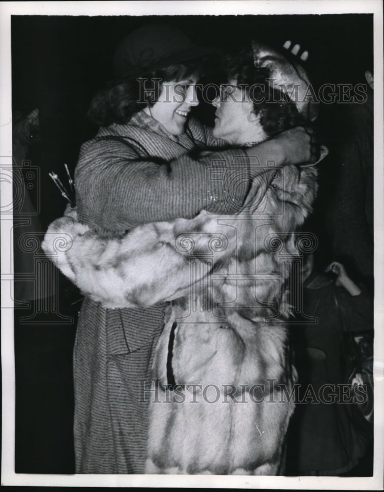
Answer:
M204 58L190 60L143 73L136 79L110 84L93 98L87 117L92 123L102 126L127 123L135 113L148 105L153 106L164 82L177 82L200 73L206 63Z

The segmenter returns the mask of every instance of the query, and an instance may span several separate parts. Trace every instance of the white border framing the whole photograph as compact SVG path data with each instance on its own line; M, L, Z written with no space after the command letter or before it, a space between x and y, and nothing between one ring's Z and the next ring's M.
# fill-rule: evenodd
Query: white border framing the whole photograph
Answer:
M383 490L384 463L384 152L383 152L383 4L380 0L250 0L250 1L65 1L0 2L0 156L12 155L11 15L374 15L374 230L375 230L375 443L373 477L268 477L195 475L43 475L16 474L15 361L12 309L1 309L2 458L1 485L84 487L193 487L297 490ZM12 202L12 186L1 183L1 206ZM3 217L1 217L3 218ZM1 265L11 262L12 220L1 220ZM9 289L8 289L9 290ZM1 289L1 306L9 306Z

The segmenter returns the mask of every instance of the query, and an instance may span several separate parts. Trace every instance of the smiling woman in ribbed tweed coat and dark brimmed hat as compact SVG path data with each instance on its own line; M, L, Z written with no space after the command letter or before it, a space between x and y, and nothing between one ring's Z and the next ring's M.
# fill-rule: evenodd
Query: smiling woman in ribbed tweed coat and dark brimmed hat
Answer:
M309 137L302 128L257 149L192 155L220 144L204 126L188 119L198 104L196 62L188 60L202 54L181 32L162 26L141 28L118 48L115 70L125 82L96 99L96 119L110 124L82 146L75 171L79 220L99 235L118 237L143 223L192 218L203 209L227 212L221 182L207 180L207 168L217 163L222 166L224 161L231 173L241 161L247 178L236 188L241 201L255 173L250 155L262 164L270 159L276 165L309 160ZM152 78L160 74L170 92L164 95L161 84L154 94L144 87L142 104L138 102L132 114L132 104L121 102L132 91L132 78L148 73ZM184 85L182 102L167 99L179 94L177 84ZM140 379L150 377L167 308L158 303L106 309L85 298L74 348L77 473L144 472L148 409L139 402Z

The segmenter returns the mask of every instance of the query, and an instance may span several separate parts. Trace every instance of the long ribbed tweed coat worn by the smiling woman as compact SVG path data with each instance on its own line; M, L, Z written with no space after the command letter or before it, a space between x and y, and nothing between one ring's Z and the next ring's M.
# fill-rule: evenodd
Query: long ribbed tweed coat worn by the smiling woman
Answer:
M191 120L175 137L140 112L125 125L100 128L86 142L75 170L79 219L101 236L115 237L142 223L224 212L220 181L208 181L215 162L233 166L240 150L198 158L189 151L216 144ZM236 167L236 165L235 165ZM243 182L237 196L245 196ZM79 314L73 364L77 473L143 473L148 408L139 403L139 379L150 375L167 304L108 309L86 297Z

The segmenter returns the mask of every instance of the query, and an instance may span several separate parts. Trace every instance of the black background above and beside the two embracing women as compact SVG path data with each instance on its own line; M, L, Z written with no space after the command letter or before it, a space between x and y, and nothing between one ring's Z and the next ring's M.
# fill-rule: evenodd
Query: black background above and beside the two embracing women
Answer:
M27 115L39 109L40 132L29 158L40 168L43 230L62 215L66 202L48 177L62 178L63 163L72 175L82 142L96 131L86 120L94 93L112 75L117 43L144 23L166 21L195 42L223 51L242 46L252 37L279 47L287 39L310 53L311 80L324 83L365 82L372 69L373 16L164 16L70 17L12 16L12 109ZM340 105L322 105L319 126L331 148L337 141ZM202 111L202 109L200 109ZM206 109L207 111L207 109ZM326 197L331 164L321 173L320 196ZM328 168L327 168L328 166ZM317 222L321 236L321 221ZM323 242L324 244L324 242ZM321 250L326 259L326 247ZM16 472L73 473L72 348L81 295L59 275L59 312L34 315L34 324L21 318L35 313L15 310L16 352ZM40 322L40 321L41 322Z

